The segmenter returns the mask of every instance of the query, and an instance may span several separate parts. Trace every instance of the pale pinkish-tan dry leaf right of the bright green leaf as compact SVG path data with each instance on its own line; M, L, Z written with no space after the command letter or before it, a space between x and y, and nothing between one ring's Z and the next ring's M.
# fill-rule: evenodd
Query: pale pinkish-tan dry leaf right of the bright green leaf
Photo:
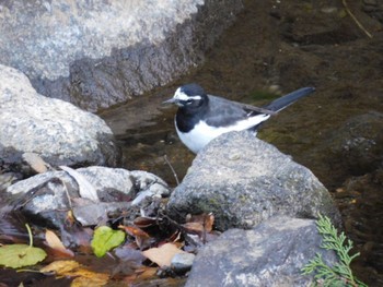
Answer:
M172 263L173 256L177 253L186 253L186 252L179 250L173 243L165 243L159 248L151 248L146 251L142 251L142 254L146 258L156 263L160 267L170 266Z

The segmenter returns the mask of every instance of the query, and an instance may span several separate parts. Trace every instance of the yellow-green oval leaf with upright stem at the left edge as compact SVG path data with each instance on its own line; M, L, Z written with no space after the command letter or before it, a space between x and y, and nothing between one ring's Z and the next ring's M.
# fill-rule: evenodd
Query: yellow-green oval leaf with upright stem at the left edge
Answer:
M11 244L0 248L0 265L11 268L34 265L46 258L43 249L26 244Z

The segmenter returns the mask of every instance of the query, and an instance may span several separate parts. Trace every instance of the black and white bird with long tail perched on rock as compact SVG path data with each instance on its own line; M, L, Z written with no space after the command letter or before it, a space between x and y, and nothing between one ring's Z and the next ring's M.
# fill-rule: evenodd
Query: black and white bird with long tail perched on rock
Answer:
M208 95L198 84L187 84L175 91L173 98L164 104L178 106L174 122L181 141L195 154L217 136L257 128L271 115L285 109L301 97L314 92L302 87L271 101L263 108Z

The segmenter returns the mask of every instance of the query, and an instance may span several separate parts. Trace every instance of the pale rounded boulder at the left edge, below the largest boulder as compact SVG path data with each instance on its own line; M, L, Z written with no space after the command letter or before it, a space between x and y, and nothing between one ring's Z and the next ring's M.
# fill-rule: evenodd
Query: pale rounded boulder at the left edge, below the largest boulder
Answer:
M37 94L15 69L0 65L0 167L20 167L23 153L53 166L116 166L120 153L101 118Z

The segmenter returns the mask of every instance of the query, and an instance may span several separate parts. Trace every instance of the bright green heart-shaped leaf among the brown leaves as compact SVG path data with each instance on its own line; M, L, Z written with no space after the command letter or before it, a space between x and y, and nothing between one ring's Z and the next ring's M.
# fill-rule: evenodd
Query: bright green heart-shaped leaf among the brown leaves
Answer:
M101 226L95 229L92 239L92 249L97 258L102 258L111 249L118 247L125 240L125 232L113 230L108 226Z

